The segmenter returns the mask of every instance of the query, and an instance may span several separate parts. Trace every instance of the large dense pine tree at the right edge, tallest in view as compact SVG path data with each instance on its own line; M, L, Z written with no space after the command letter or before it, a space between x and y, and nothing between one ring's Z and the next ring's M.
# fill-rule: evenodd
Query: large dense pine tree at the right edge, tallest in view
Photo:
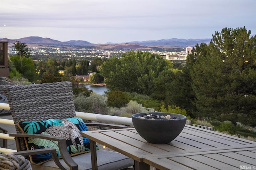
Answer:
M256 36L224 28L188 56L198 117L256 125Z

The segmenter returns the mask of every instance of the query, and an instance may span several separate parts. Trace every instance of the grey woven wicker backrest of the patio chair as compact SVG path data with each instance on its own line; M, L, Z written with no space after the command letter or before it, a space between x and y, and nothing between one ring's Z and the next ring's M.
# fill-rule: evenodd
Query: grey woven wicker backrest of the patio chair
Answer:
M16 132L21 133L19 121L66 119L76 116L72 83L63 81L33 85L6 85L8 99ZM20 146L26 150L22 140Z

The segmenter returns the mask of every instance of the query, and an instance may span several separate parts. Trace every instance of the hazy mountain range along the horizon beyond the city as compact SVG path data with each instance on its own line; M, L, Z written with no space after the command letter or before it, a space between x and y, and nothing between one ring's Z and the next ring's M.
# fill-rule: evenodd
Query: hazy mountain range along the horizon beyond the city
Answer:
M20 41L22 43L28 44L38 44L38 45L74 45L74 46L99 46L99 45L110 45L110 46L134 46L135 48L144 48L143 46L162 46L162 47L194 47L197 43L209 43L211 41L210 38L206 39L178 39L171 38L168 40L152 40L152 41L142 41L142 42L126 42L126 43L106 43L106 44L93 44L87 41L82 40L70 40L68 42L60 42L58 40L52 40L50 38L42 38L42 37L26 37L20 39L10 40L7 38L0 38L0 41L5 41L9 43L15 43L16 41ZM128 47L127 47L128 48Z

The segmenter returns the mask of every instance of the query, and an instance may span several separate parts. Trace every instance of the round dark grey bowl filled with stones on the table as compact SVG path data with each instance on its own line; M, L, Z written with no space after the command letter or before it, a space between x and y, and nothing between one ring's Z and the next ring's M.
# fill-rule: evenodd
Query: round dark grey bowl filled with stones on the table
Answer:
M148 115L148 119L141 118L146 115ZM152 117L157 117L157 115L159 118L152 119ZM161 116L165 118L160 119ZM186 120L186 116L176 113L154 112L136 113L132 115L132 123L138 134L146 141L154 144L170 143L183 130Z

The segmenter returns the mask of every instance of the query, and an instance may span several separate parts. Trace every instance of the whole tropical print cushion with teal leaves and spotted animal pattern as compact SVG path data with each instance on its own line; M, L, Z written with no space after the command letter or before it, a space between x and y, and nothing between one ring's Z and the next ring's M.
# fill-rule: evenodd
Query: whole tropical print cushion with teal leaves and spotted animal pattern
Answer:
M70 156L90 152L89 139L81 135L81 131L88 131L86 124L80 117L68 119L48 119L45 121L20 121L18 127L23 133L45 134L66 138L67 149ZM26 138L26 147L28 150L40 148L55 148L58 157L61 158L57 141L41 138ZM98 150L99 147L96 146ZM30 156L33 164L43 164L52 160L50 153L37 154Z

